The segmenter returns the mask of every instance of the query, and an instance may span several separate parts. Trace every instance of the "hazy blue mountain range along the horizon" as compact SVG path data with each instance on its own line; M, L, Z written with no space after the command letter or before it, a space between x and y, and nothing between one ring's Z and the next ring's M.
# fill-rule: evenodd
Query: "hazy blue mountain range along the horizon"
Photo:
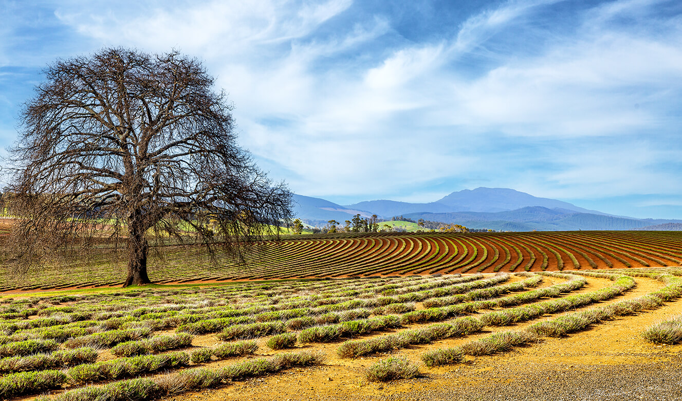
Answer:
M387 220L404 216L501 231L672 230L679 229L675 224L682 224L682 220L612 216L509 188L462 190L431 203L365 201L342 206L302 195L294 195L294 201L297 217L317 226L332 219L342 223L358 213L365 218L372 214Z

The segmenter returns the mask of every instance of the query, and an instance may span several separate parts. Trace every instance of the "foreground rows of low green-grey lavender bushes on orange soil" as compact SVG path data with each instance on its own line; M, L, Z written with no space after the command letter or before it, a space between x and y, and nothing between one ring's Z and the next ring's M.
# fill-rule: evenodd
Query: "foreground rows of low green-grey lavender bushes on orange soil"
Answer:
M152 400L361 360L372 361L363 380L413 378L655 310L682 296L680 276L659 267L4 295L0 396ZM640 280L659 288L619 299ZM682 338L679 319L641 331L642 341ZM439 346L451 338L464 341Z

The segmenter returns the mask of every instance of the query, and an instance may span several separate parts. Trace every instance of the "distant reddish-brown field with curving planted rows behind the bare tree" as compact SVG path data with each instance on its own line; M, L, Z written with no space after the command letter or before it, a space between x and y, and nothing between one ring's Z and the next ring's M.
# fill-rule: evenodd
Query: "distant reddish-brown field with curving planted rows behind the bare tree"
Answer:
M221 282L679 266L682 233L309 235L263 241L236 251L237 255L220 246L212 253L198 247L152 248L149 277L159 283ZM116 263L104 248L68 255L59 267L48 267L20 281L5 280L0 291L119 286L124 271L125 258Z

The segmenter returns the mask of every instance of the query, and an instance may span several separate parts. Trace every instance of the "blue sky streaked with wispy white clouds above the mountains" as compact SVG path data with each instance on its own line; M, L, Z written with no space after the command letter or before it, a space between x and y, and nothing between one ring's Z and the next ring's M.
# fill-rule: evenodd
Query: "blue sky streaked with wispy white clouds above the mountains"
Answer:
M204 61L239 142L348 204L514 188L682 218L680 1L0 1L0 146L55 59Z

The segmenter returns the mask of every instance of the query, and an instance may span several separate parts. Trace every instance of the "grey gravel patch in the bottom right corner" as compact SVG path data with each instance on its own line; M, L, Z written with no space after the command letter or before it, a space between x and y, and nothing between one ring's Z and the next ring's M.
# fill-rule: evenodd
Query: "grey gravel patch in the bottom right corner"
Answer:
M682 400L682 358L628 365L481 366L443 374L451 385L432 387L424 377L415 389L377 400ZM492 368L486 370L486 368ZM449 380L447 380L449 379ZM439 381L441 382L441 381ZM442 383L442 382L441 382ZM419 389L421 387L421 389Z

